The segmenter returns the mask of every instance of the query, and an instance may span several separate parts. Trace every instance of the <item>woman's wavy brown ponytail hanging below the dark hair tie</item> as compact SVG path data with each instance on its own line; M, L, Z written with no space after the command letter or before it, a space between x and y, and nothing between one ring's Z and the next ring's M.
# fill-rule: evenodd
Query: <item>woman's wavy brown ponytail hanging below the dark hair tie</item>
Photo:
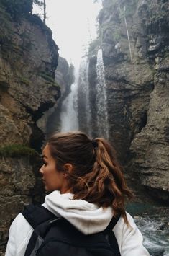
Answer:
M104 138L97 138L96 141L98 147L93 171L97 168L100 170L97 182L99 190L104 191L104 204L105 206L111 205L114 215L122 214L124 220L127 222L124 199L132 198L132 192L126 185L122 167L117 162L114 149Z

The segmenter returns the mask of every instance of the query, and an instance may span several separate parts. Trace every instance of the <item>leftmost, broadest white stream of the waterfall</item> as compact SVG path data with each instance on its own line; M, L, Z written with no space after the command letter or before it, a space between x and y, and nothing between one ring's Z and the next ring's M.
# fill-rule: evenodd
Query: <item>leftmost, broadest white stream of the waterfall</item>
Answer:
M71 92L65 98L61 107L60 121L61 131L77 131L78 130L78 76L76 74L75 82L71 85Z

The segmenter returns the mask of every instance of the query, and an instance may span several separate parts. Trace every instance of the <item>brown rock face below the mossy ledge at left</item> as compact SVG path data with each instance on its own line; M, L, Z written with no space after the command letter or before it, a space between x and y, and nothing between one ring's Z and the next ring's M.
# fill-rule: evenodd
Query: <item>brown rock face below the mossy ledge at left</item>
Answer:
M5 249L9 225L24 205L32 202L30 190L35 185L35 175L28 157L1 159L0 180L0 239Z

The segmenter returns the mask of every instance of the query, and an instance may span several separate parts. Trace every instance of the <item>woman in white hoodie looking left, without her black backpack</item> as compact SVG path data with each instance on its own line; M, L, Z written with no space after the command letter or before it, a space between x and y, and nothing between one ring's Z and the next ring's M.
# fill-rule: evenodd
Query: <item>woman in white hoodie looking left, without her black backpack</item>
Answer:
M43 206L63 216L83 234L106 229L112 216L121 217L114 234L122 256L148 256L142 234L124 210L124 198L130 198L114 150L103 138L91 140L85 133L53 135L42 151L40 168L45 190ZM21 213L9 230L6 256L24 256L32 226Z

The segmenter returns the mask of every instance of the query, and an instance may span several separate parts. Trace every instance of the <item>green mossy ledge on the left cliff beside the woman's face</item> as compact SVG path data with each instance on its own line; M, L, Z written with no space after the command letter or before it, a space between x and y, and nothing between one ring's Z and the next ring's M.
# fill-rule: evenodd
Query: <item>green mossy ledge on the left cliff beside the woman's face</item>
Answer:
M29 146L12 144L0 147L1 157L18 157L18 156L34 156L39 157L40 155L35 149L29 148Z

